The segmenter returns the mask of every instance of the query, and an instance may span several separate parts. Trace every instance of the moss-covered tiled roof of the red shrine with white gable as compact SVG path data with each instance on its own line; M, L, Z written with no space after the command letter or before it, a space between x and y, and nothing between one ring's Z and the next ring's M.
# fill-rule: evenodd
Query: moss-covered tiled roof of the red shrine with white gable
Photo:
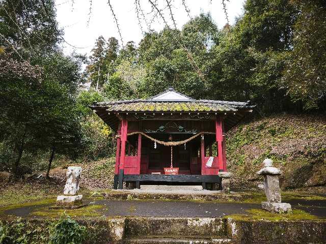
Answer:
M172 92L172 93L171 93ZM172 95L171 95L172 94ZM180 96L178 96L180 95ZM178 98L178 99L175 99ZM195 100L186 97L184 94L169 88L149 99L94 102L90 108L94 109L107 125L113 130L118 130L118 112L152 112L152 113L177 113L177 112L205 112L205 113L226 113L224 117L225 129L228 131L246 114L252 111L255 106L248 102L228 102L215 100ZM111 113L110 113L111 112Z

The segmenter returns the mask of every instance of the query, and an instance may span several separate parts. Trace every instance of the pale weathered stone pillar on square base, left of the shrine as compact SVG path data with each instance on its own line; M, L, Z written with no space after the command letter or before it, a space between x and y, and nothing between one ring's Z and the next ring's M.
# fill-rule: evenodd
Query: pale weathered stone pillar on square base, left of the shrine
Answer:
M66 176L67 181L62 196L57 197L58 206L76 206L82 205L83 195L76 195L79 190L80 174L82 167L69 166Z

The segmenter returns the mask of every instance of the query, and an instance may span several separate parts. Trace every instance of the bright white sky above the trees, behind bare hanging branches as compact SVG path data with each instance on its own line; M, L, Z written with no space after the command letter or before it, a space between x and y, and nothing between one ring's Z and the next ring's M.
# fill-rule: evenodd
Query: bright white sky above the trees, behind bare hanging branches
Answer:
M219 28L222 28L226 24L221 0L212 0L211 2L210 0L187 0L185 2L188 9L191 11L190 14L192 17L199 15L201 12L210 12ZM230 24L234 23L235 17L241 14L243 2L244 0L225 1ZM140 3L145 14L151 11L148 0L141 0ZM160 9L163 9L166 1L157 0L157 3ZM181 28L182 25L189 20L181 3L181 0L172 0L171 2L178 28ZM134 41L138 44L142 39L142 32L134 10L134 0L111 0L111 4L118 18L124 44L127 41ZM105 39L116 37L121 46L116 23L114 22L107 0L92 0L92 11L90 15L90 0L56 0L56 8L59 26L63 27L65 31L65 40L73 46L83 47L75 49L76 52L90 54L96 38L100 35ZM164 17L172 27L172 21L169 15L170 12L168 9L165 9L164 13ZM88 24L89 16L90 22ZM150 15L146 16L150 22ZM148 28L144 20L142 21L142 26L144 31L147 31ZM156 21L151 25L151 28L155 29L155 31L160 31L163 27L164 23L159 17L157 17ZM74 49L66 43L63 47L67 54L71 53Z

